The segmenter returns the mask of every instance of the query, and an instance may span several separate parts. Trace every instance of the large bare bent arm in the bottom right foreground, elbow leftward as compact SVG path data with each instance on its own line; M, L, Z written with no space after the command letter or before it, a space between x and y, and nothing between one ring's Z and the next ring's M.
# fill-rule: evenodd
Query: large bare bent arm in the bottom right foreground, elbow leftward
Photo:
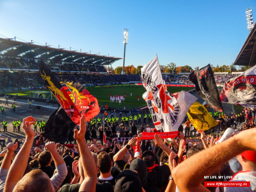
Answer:
M201 184L204 181L204 175L210 175L220 165L245 150L256 150L255 142L256 128L244 130L186 159L172 171L173 179L180 192L209 192Z

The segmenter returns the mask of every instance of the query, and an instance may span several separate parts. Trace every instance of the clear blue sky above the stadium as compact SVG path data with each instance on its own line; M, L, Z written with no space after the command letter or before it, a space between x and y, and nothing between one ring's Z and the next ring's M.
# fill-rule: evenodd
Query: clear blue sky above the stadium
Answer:
M156 53L162 65L230 65L249 34L247 7L256 18L255 0L1 0L0 34L123 57L129 28L126 65Z

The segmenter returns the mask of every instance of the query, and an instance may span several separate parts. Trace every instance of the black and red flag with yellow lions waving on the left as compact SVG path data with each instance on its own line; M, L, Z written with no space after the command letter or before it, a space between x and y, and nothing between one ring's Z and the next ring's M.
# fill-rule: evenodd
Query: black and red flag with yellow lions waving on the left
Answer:
M39 71L47 88L74 123L79 125L83 114L86 116L86 121L99 114L97 99L83 88L75 76L66 76L62 78L63 81L59 81L43 61L39 63Z

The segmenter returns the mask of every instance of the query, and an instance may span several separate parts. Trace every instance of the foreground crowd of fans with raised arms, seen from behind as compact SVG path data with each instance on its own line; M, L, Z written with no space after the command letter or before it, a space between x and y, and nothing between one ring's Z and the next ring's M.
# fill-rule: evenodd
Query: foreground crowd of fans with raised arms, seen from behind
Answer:
M249 112L247 110L244 112ZM142 132L155 130L135 127L138 132L126 142L116 137L107 137L102 145L96 139L92 139L88 144L87 122L85 116L82 116L80 128L74 130L77 144L60 145L43 139L41 133L35 135L31 128L35 120L33 117L25 118L22 128L26 139L16 143L9 142L7 149L0 153L0 191L256 190L255 128L248 127L248 130L242 130L240 133L227 128L222 136L206 135L204 131L200 131L201 136L194 140L185 140L180 132L178 137L171 138L170 142L163 140L158 134L154 135L154 140L144 140ZM250 185L207 185L207 182L228 181L227 178L231 178L228 183L249 181Z

